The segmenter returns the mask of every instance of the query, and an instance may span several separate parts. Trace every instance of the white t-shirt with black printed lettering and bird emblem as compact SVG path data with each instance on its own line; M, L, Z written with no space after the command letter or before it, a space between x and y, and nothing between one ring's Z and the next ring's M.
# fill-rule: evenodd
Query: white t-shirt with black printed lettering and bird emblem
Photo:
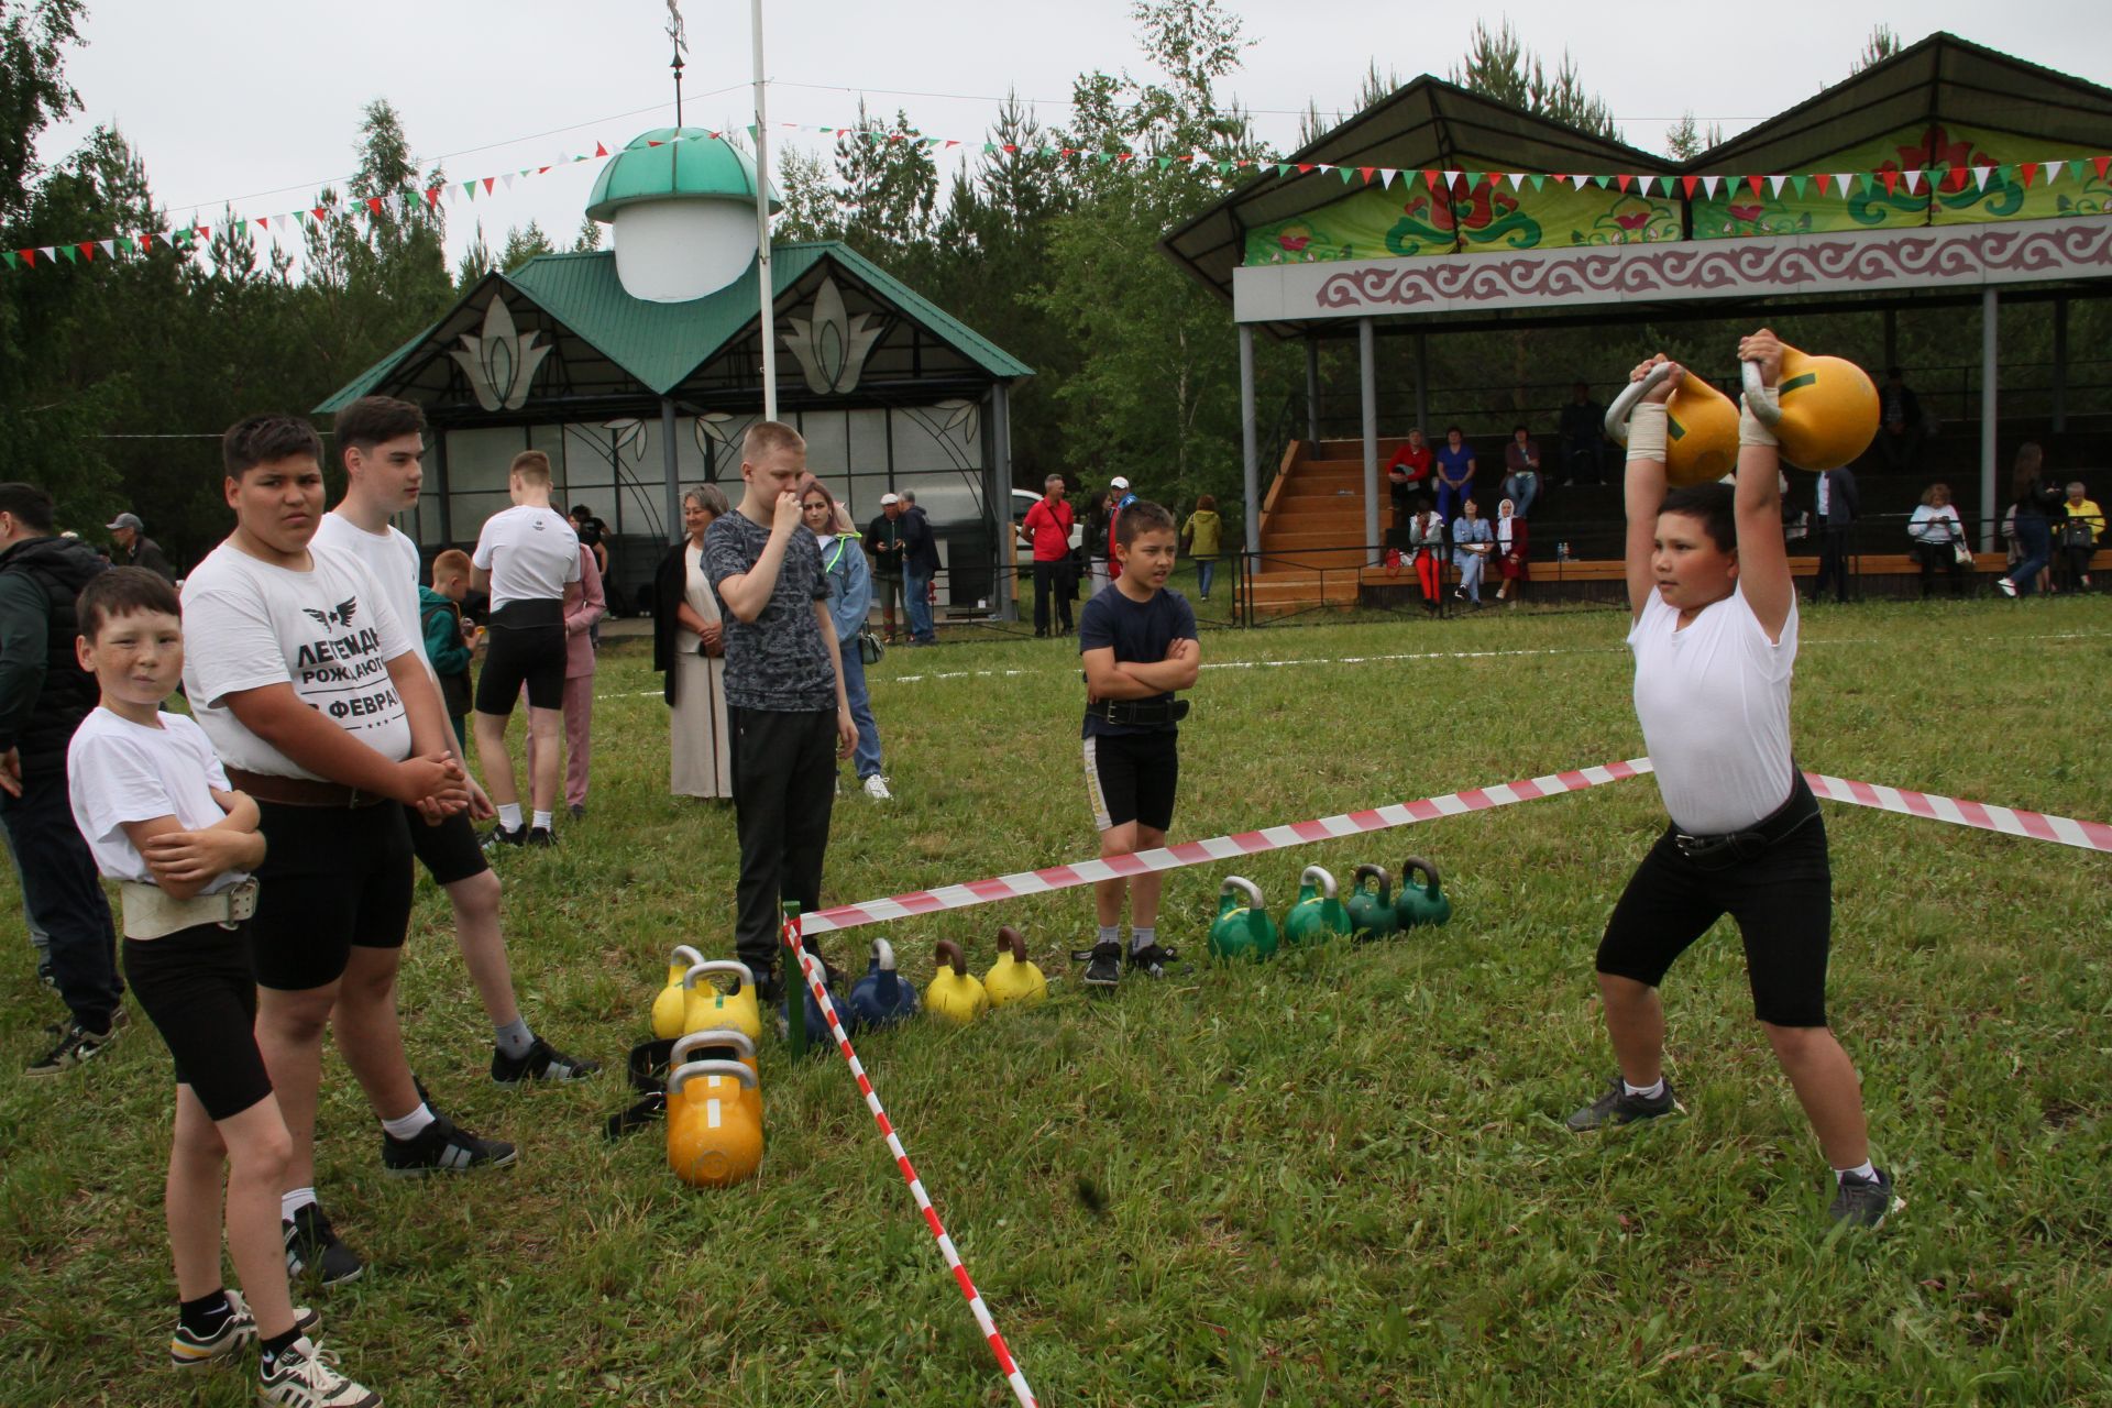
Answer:
M184 578L184 692L230 768L315 777L226 707L228 695L268 684L291 684L382 758L410 758L389 661L422 654L397 621L395 593L351 553L310 545L308 559L310 570L296 572L222 543Z

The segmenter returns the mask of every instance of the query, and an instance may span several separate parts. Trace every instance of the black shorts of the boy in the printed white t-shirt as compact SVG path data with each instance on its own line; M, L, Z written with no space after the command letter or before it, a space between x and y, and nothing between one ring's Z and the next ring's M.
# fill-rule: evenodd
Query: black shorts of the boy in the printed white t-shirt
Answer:
M403 948L412 870L401 804L258 811L266 851L249 939L262 986L306 992L338 982L355 944Z

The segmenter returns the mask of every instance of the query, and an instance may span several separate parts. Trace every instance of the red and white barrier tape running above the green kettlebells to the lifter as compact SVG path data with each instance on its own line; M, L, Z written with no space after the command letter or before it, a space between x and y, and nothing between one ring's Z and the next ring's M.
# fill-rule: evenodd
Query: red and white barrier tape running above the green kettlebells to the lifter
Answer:
M1438 798L1421 798L1417 802L1392 802L1388 806L1375 806L1371 811L1352 811L1339 817L1320 817L1318 821L1293 821L1290 825L1271 825L1259 832L1240 832L1238 836L1185 840L1178 846L1138 851L1136 855L1117 855L1105 861L1102 859L1071 861L1069 865L1050 865L1048 870L1026 870L1012 876L969 880L967 884L946 884L936 891L912 891L908 895L893 895L889 899L868 899L864 903L836 906L834 910L807 914L805 929L807 933L828 933L830 929L857 929L860 925L879 925L891 918L908 918L910 914L934 914L938 910L965 910L969 906L991 903L995 899L1041 895L1045 891L1071 889L1075 884L1094 884L1098 880L1115 880L1121 876L1134 876L1149 870L1181 870L1183 865L1202 865L1206 861L1233 861L1240 859L1242 855L1259 855L1263 851L1303 846L1314 840L1337 840L1341 836L1383 832L1396 825L1415 825L1417 821L1436 821L1438 817L1457 817L1470 811L1489 811L1491 806L1533 802L1546 796L1567 796L1571 792L1584 792L1588 787L1603 787L1605 783L1626 781L1643 773L1649 773L1649 758L1630 758L1628 762L1609 762L1599 768L1550 773L1548 777L1531 777L1514 783L1497 783L1493 787L1468 787L1466 792L1449 792Z

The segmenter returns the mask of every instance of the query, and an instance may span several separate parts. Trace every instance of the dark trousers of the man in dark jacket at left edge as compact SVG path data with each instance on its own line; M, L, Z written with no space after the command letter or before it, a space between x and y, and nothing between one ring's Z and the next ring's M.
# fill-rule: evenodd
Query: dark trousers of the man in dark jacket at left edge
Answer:
M51 935L51 979L59 996L74 1022L108 1032L125 996L118 935L95 857L65 800L65 770L38 768L23 777L19 798L0 794L0 821L15 842L21 895L38 929Z

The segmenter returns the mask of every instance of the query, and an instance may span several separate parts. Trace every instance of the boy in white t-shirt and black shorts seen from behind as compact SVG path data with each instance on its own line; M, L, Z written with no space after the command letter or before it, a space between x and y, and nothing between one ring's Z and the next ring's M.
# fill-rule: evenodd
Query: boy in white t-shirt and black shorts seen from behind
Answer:
M549 846L551 811L558 806L560 739L564 737L564 612L579 597L579 534L549 507L549 456L522 450L507 469L513 507L494 513L477 534L471 585L492 593L492 627L484 673L477 676L477 762L498 802L498 827L488 846ZM534 815L522 825L507 722L513 701L528 686L530 754L528 792Z

